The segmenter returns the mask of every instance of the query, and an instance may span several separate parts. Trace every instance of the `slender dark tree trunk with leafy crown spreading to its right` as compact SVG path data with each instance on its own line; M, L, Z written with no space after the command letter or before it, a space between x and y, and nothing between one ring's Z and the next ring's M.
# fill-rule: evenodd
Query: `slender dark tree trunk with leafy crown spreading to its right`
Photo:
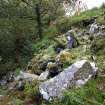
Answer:
M35 10L36 22L38 26L39 38L42 38L43 18L47 16L49 21L55 20L58 10L61 8L61 3L56 0L21 0L23 3ZM52 18L52 19L51 19Z

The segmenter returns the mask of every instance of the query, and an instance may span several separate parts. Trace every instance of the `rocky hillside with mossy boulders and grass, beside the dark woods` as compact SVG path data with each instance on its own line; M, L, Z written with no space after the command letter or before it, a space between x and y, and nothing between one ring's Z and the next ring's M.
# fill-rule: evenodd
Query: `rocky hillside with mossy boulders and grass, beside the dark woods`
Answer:
M24 70L3 76L0 105L105 104L104 16L76 19L49 43L38 42Z

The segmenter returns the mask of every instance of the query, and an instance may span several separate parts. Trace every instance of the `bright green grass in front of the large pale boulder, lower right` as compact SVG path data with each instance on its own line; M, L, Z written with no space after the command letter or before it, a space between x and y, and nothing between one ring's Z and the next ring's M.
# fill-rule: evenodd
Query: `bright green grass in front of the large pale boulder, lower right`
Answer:
M100 79L89 81L82 88L69 89L61 99L46 105L104 105L100 92L97 91Z

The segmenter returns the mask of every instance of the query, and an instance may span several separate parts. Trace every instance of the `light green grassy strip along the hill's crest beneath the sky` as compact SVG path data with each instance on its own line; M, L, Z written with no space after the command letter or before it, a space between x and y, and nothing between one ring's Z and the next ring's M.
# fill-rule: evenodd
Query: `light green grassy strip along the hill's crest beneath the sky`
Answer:
M81 21L85 19L91 19L92 17L98 16L102 13L102 9L93 8L82 12L79 16L63 17L59 18L56 22L56 26L59 32L66 32L71 26L82 26Z

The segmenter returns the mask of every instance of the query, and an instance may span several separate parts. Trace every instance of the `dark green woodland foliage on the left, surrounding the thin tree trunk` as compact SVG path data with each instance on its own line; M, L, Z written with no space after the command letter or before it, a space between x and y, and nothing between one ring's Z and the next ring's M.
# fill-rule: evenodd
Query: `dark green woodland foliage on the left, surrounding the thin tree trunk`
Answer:
M9 59L13 65L24 66L33 51L47 48L52 43L48 37L51 38L57 33L56 27L50 27L50 23L63 15L61 4L56 3L56 0L43 0L41 4L40 0L32 0L28 3L31 6L21 0L0 1L0 56L5 61L0 62L0 65L7 64L6 60ZM40 8L43 30L43 39L39 42L36 41L39 37L35 11L37 5ZM7 70L3 66L2 71ZM12 67L9 70L12 70Z

